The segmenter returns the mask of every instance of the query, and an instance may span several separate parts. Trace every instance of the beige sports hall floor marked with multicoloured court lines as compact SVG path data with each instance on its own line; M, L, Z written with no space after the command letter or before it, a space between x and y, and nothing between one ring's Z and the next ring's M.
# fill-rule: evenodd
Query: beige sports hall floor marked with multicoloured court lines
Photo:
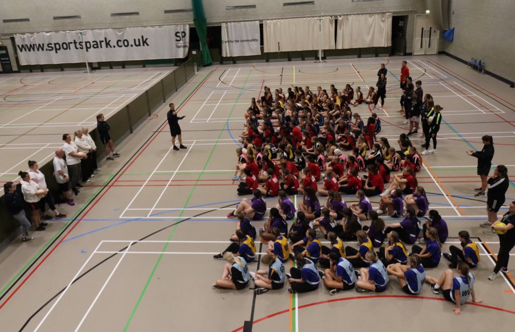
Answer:
M421 79L424 92L431 93L435 104L444 108L438 153L423 157L418 180L430 193L430 207L440 211L449 225L451 238L442 252L448 252L451 244L459 245L459 230L468 230L480 243L482 260L472 273L475 292L483 304L466 304L461 316L455 317L454 305L433 294L427 285L420 296L408 296L393 278L387 291L377 295L351 290L330 296L320 286L304 294L289 294L285 287L255 296L252 282L242 291L212 289L224 265L212 256L230 243L229 236L236 226L236 221L226 215L240 200L237 183L231 177L235 174L237 137L250 98L258 98L264 86L273 91L305 85L313 90L317 85L329 89L330 84L341 89L352 84L366 91L369 85L375 86L376 72L384 62L389 73L385 111L378 113L383 124L379 137L388 138L395 146L399 134L407 132L398 112L402 60L408 60L414 81ZM52 80L51 74L44 75ZM72 89L68 85L80 88L81 75L68 81L61 79L60 89ZM0 76L0 85L10 85L2 83L3 78ZM119 79L124 85L125 78ZM45 83L38 87L42 95L55 91ZM18 97L16 92L6 90L2 89L3 97ZM201 69L170 101L186 117L181 127L187 150L171 149L165 123L167 106L163 105L117 145L121 158L101 162L102 172L76 198L80 204L62 207L70 219L52 222L45 232L34 234L35 240L28 244L16 240L0 254L3 331L237 331L243 330L245 321L250 322L247 324L253 331L368 327L401 331L513 330L513 276L501 273L494 281L487 279L499 239L484 235L484 228L479 227L486 220L486 199L473 196L479 185L476 159L466 154L467 150L482 148L483 135L492 135L493 165L505 164L512 181L506 204L515 200L513 89L446 56L390 57L338 59L323 64L213 65ZM27 128L22 127L49 126L42 118L46 99L30 103L30 107L21 108L31 112L24 122L16 121L15 115L4 118L4 112L0 112L2 134L23 135L21 143L31 143L34 141L24 135ZM84 109L87 115L66 120L71 123L68 131L85 123L91 125L102 107L114 107L110 103L113 99L97 99L94 109ZM365 104L352 110L362 117L371 112ZM9 131L3 131L4 127ZM1 139L4 143L9 140ZM413 140L420 146L418 137ZM47 147L55 148L60 137L38 137L36 142L38 146L50 142ZM16 149L0 151L2 159L20 159ZM33 152L27 150L25 156ZM3 163L2 172L24 170L26 159L18 160L23 162L17 165ZM2 180L8 178L3 176ZM344 198L355 201L353 196ZM378 198L372 197L371 201L376 209ZM267 199L268 207L276 202L276 198ZM387 223L391 222L393 219L387 218ZM261 227L262 222L254 225ZM258 249L266 252L262 245ZM514 271L515 257L511 258L509 270ZM255 271L259 264L250 263L249 267ZM442 258L438 268L426 269L426 274L438 277L447 264Z

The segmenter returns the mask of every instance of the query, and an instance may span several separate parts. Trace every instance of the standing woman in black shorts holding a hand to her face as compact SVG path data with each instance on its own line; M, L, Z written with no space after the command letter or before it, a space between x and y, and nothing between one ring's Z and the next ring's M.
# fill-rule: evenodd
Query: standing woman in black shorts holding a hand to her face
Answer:
M487 213L488 221L480 224L481 227L490 227L497 221L497 212L506 201L506 191L510 185L508 179L508 169L505 165L498 165L493 171L493 176L488 179L487 192ZM489 228L483 231L485 234L495 235L495 232Z

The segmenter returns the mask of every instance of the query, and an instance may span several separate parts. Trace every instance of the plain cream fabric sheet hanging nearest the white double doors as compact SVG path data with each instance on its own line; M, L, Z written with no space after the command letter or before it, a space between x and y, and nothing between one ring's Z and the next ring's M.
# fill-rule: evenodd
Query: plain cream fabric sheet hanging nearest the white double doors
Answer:
M392 13L338 16L336 48L391 46Z

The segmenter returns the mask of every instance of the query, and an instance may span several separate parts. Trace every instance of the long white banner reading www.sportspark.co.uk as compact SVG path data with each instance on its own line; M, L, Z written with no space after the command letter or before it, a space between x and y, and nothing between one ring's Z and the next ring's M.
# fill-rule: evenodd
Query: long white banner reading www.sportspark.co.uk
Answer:
M187 24L16 34L20 64L76 63L184 58Z

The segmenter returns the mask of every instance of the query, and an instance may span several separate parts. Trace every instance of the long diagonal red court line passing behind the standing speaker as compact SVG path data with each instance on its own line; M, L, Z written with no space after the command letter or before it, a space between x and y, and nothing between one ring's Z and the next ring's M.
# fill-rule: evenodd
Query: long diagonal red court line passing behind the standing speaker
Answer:
M197 89L195 89L195 91L192 93L192 95L184 102L184 104L182 104L178 110L181 110L182 107L184 105L187 104L188 101L190 101L191 97L193 97L193 95L195 95L195 93L197 93L200 88L202 87L202 85L204 85L205 82L208 81L208 79L211 77L211 75L213 75L213 73L218 69L218 67L216 67L212 72L211 74L208 75L208 77L205 78L205 80L202 82L202 84L200 84ZM14 291L9 295L9 297L6 298L6 300L0 305L0 309L2 309L7 302L9 302L9 300L11 300L12 296L14 296L14 294L16 294L16 292L18 292L18 290L26 283L26 281L32 276L32 274L34 274L34 272L36 272L39 267L41 266L41 264L43 264L43 262L50 256L52 255L52 253L56 250L56 248L62 243L62 241L64 239L66 239L66 237L68 235L70 235L70 233L72 233L72 231L75 229L75 227L77 227L78 224L80 224L80 222L82 221L82 219L84 219L84 217L86 217L86 215L88 215L88 213L95 207L95 205L100 202L100 200L102 199L102 197L104 197L104 195L109 191L109 189L111 189L113 187L113 185L116 183L116 181L122 177L122 175L124 175L124 173L131 167L131 165L134 163L134 161L136 161L136 159L138 159L142 154L143 152L147 149L147 147L150 146L150 144L156 139L156 137L159 136L159 134L161 134L161 132L163 131L163 129L168 125L168 123L164 123L163 126L161 127L161 129L159 130L159 132L157 133L157 135L155 135L154 137L152 137L152 139L147 143L147 145L145 145L145 147L140 151L140 153L134 157L134 159L132 159L132 161L127 165L127 167L122 171L122 173L120 175L118 175L118 177L112 182L112 184L110 184L107 189L97 198L97 200L90 206L90 208L82 215L82 217L80 217L80 219L75 223L75 225L72 226L72 228L70 228L70 230L67 231L67 233L59 240L59 242L57 242L57 244L52 248L52 250L50 250L48 252L48 254L45 255L45 257L43 257L43 259L38 263L38 265L36 265L36 267L34 269L32 269L32 271L30 271L30 273L23 279L23 281L20 283L20 285L18 285L18 287L16 287L16 289L14 289Z

